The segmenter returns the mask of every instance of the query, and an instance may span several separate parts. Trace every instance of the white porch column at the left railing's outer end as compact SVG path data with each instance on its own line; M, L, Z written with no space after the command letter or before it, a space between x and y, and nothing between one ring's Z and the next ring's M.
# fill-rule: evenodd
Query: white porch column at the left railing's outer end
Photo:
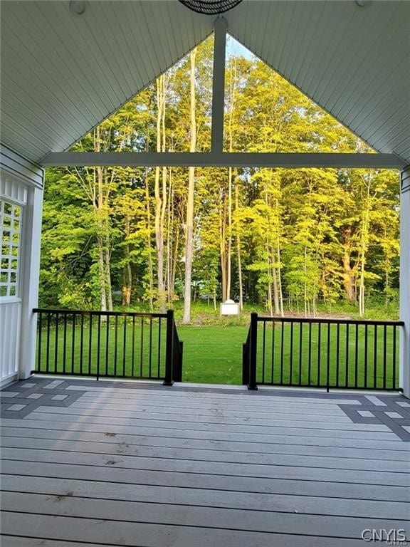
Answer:
M33 308L38 306L38 281L40 277L41 218L43 189L31 187L24 222L23 276L21 279L21 337L19 378L28 378L36 363L37 316Z

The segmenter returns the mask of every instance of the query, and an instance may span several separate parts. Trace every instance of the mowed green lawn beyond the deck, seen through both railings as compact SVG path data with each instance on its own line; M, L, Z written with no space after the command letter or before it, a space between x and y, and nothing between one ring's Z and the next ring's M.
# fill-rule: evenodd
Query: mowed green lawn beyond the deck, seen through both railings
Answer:
M260 384L396 387L399 329L366 330L317 324L293 328L285 323L263 332L258 328L257 382ZM240 385L243 325L179 325L184 343L184 382ZM328 338L329 335L329 338ZM90 325L43 326L37 342L41 372L82 375L152 377L165 375L166 328L158 321L119 318ZM396 366L394 367L394 363ZM395 370L394 370L395 368Z

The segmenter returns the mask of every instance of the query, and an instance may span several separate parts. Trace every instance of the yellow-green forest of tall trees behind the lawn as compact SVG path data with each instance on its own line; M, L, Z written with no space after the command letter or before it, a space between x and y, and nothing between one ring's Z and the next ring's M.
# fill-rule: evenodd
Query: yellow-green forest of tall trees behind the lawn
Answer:
M208 38L75 151L208 152ZM98 89L95 90L98 93ZM226 64L224 149L370 152L262 61ZM399 179L387 170L53 168L46 173L42 306L148 310L234 298L307 315L394 298Z

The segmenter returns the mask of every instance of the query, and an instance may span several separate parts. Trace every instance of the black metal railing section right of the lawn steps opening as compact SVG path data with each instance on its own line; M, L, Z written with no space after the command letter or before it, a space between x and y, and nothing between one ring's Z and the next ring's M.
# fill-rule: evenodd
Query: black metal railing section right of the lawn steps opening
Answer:
M243 384L399 390L402 321L263 317L251 314Z

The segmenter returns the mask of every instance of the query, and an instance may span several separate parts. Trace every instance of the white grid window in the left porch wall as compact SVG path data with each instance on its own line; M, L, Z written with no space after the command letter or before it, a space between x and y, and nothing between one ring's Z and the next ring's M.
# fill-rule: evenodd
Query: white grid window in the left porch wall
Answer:
M21 207L0 199L0 298L19 296Z

